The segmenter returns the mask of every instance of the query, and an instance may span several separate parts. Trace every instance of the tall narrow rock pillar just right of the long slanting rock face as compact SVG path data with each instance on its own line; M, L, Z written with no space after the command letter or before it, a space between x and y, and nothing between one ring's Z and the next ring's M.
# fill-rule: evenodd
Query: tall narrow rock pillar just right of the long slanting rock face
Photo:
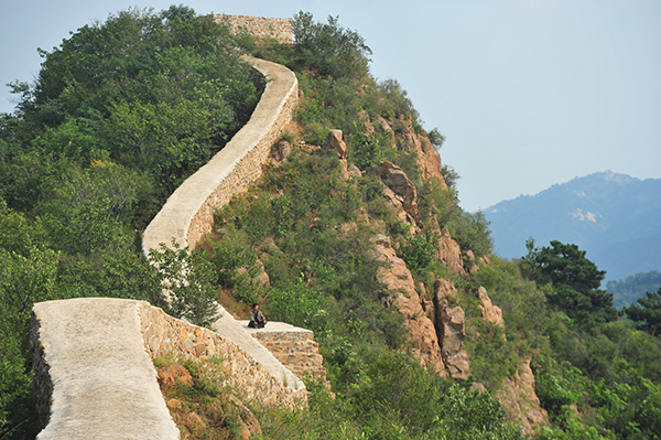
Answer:
M453 298L456 298L456 289L452 281L437 280L433 302L441 354L449 375L455 379L465 380L470 374L470 363L464 344L466 316L460 305L451 307Z

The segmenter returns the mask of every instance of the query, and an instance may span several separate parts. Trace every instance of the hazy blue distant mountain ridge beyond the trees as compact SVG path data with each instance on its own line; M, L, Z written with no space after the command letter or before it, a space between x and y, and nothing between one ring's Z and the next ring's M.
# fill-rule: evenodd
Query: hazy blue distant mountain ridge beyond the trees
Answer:
M661 179L640 180L613 171L555 184L484 211L496 254L519 258L525 240L573 243L606 279L661 269Z

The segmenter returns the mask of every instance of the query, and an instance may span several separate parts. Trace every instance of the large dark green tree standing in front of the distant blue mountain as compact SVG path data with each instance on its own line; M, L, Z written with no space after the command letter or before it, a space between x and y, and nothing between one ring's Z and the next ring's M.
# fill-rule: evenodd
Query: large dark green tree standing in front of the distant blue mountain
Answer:
M551 283L549 303L584 325L613 321L617 311L613 294L599 289L606 272L585 257L576 245L552 240L550 247L535 248L525 243L528 255L521 261L523 272L539 285Z

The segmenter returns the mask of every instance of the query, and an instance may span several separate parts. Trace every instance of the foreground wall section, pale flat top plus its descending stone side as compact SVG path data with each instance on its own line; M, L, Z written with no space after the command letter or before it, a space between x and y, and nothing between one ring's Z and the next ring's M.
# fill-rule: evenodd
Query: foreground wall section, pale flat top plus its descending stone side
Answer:
M253 404L295 408L307 399L302 383L273 376L230 339L144 301L36 303L31 344L44 426L39 440L178 439L153 357L219 358L226 385Z

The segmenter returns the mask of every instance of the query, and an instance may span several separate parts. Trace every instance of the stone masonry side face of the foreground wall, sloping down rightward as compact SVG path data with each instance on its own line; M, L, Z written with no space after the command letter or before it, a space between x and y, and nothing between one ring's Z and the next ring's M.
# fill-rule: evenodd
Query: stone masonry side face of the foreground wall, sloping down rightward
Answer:
M218 357L226 384L254 403L294 408L306 401L305 388L293 390L273 377L243 350L210 330L167 315L144 303L141 311L142 335L151 357Z

